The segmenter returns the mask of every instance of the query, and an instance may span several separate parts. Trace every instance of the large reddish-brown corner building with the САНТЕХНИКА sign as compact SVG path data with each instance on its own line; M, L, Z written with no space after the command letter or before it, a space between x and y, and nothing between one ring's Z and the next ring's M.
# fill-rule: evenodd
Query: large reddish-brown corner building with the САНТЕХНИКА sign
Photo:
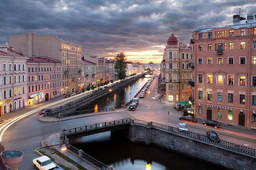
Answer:
M197 117L256 129L256 18L197 27L192 33Z

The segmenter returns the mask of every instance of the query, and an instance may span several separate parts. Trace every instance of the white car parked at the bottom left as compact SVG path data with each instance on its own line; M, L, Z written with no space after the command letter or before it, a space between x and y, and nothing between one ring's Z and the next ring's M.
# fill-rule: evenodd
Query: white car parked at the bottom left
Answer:
M33 164L39 170L54 170L57 168L57 166L47 156L42 156L42 157L33 159Z

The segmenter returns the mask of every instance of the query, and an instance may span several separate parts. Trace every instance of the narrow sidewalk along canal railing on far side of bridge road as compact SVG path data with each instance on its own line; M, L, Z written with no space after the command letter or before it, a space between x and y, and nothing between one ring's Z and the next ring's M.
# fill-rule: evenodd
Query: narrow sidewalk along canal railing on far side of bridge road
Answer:
M47 116L39 116L38 120L41 122L57 122L57 121L65 121L65 120L72 120L72 119L79 119L79 118L84 118L84 117L90 117L90 116L95 116L95 115L104 115L104 114L111 114L111 113L120 113L120 112L125 112L127 111L127 108L123 109L116 109L114 111L106 111L106 112L95 112L95 113L86 113L86 114L78 114L74 116L69 116L69 117L64 117L64 118L54 118L54 117L47 117Z

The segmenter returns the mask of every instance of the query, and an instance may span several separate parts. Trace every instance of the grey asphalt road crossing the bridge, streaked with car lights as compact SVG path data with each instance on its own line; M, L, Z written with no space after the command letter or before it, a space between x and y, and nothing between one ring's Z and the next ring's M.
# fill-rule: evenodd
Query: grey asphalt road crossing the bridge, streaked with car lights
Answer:
M110 121L123 118L134 118L145 121L155 121L158 123L168 125L167 111L170 111L170 126L177 126L181 122L178 117L182 115L182 112L175 111L172 105L162 104L159 100L154 99L155 89L157 89L157 78L151 82L151 86L148 88L150 93L146 94L143 99L139 100L139 105L135 111L126 111L121 113L112 113L106 115L95 115L86 118L67 120L54 123L42 123L37 120L38 111L31 112L30 115L18 120L15 124L12 124L2 136L2 145L5 149L21 150L23 160L19 166L19 170L32 170L34 166L32 159L38 157L34 153L35 148L41 147L41 141L48 136L62 132L62 129L73 128L79 125L88 125L92 123ZM66 102L66 101L64 101ZM199 120L200 121L200 120ZM199 122L200 123L200 122ZM214 129L202 124L187 123L189 131L193 131L199 134L205 134L206 130L215 130L220 139L238 143L251 148L256 148L256 132L253 130L244 130L236 127L224 126L221 129ZM0 128L2 132L3 129ZM231 132L230 132L231 131ZM234 134L241 133L241 134ZM249 136L252 135L252 136Z

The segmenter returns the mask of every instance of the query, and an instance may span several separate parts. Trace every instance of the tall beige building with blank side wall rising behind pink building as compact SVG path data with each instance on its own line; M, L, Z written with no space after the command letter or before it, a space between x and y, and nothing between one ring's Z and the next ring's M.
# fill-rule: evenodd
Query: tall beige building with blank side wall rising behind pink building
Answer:
M62 62L63 94L79 90L81 86L82 46L62 37L50 35L9 35L9 45L26 57L48 56Z

